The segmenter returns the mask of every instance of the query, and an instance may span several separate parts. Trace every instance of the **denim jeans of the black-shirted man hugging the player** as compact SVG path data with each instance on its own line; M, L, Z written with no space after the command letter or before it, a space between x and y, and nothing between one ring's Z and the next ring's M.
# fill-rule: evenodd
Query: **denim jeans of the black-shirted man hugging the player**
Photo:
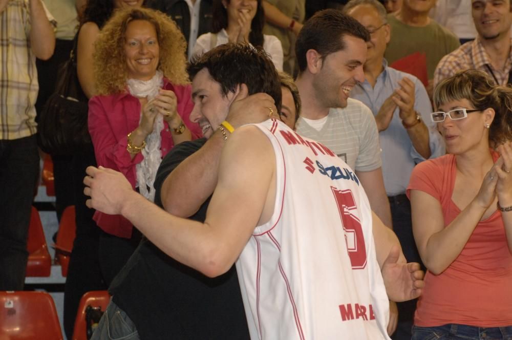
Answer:
M130 317L111 299L91 340L140 340L140 337Z

